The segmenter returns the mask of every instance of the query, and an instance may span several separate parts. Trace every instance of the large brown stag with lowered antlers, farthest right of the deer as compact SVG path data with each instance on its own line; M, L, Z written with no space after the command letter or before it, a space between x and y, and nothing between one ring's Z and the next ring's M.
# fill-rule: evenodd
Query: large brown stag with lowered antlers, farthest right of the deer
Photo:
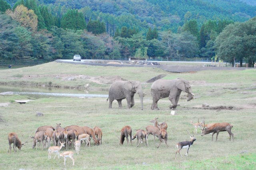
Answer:
M204 123L204 127L201 129L202 130L201 136L212 133L212 141L213 141L213 135L216 133L216 141L217 141L219 132L227 131L229 134L229 141L231 141L231 136L234 141L234 134L231 132L232 127L233 127L233 125L231 125L230 123L226 123L226 122L211 123L210 127L206 127L206 125Z

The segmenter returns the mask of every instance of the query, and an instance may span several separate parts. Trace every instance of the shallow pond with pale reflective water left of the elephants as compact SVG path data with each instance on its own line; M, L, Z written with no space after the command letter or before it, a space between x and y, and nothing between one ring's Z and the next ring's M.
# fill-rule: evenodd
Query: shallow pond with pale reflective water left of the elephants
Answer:
M63 89L63 88L35 88L24 86L0 86L0 93L13 92L14 94L30 96L33 98L78 97L78 98L108 98L108 92L89 92L87 90Z

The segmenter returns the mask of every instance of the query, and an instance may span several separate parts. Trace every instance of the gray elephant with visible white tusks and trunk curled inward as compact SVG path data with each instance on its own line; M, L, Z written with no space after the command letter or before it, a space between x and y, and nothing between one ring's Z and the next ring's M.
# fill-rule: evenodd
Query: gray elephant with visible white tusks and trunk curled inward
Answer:
M152 110L159 110L157 102L159 99L169 97L172 102L170 109L177 107L181 91L188 93L188 101L193 99L191 86L187 80L177 78L174 80L156 80L151 86L151 95L153 97Z

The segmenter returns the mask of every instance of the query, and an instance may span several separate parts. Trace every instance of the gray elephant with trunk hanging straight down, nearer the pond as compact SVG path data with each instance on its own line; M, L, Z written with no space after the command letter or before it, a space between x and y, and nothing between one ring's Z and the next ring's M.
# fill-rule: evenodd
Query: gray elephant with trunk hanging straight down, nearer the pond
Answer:
M117 100L119 108L122 108L122 100L126 98L127 107L130 109L134 106L134 94L140 96L141 109L143 110L143 91L141 83L138 81L121 81L114 82L108 91L109 108L112 108L112 102ZM108 101L107 99L107 101Z

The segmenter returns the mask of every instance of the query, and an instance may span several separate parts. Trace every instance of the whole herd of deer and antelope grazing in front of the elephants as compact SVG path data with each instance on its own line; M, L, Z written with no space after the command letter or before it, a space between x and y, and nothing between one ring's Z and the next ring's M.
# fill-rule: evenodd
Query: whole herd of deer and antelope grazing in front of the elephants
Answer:
M121 136L120 136L120 143L119 145L124 144L124 140L127 141L127 146L129 143L128 137L130 137L130 143L132 145L132 140L137 138L136 141L136 147L138 147L140 144L145 143L146 147L148 147L148 136L153 135L154 136L154 143L155 143L155 137L158 137L159 144L164 141L166 144L166 147L168 148L167 140L168 140L168 133L166 131L168 125L166 121L162 123L158 123L158 117L152 119L150 121L153 125L146 126L146 130L144 129L136 129L136 134L132 136L132 128L130 126L124 126L121 129ZM201 136L211 133L212 134L212 141L213 141L213 135L216 133L216 141L218 138L218 133L221 131L227 131L229 134L229 140L232 139L234 141L234 135L231 132L232 125L230 123L210 123L205 124L204 120L201 122L193 123L190 121L190 123L194 127L195 133L197 133L197 129L201 129ZM194 141L196 141L196 138L194 137L194 131L192 131L193 135L191 135L188 131L188 134L190 135L190 141L182 141L176 144L177 151L176 154L180 154L180 150L182 148L186 148L186 154L185 156L188 156L188 150L190 149L191 145L193 145ZM23 134L24 135L24 134ZM23 137L22 135L22 137ZM78 126L78 125L70 125L67 127L61 127L61 124L56 123L56 127L52 126L40 126L37 128L36 133L34 137L30 137L29 139L33 139L32 149L36 147L36 149L41 148L42 143L42 150L48 148L48 158L51 159L51 154L55 153L54 158L58 155L58 158L64 157L64 165L66 166L66 158L70 158L72 160L72 165L74 165L74 152L68 151L70 149L70 146L74 146L75 152L79 155L80 147L82 145L82 142L84 141L85 147L90 147L91 139L93 140L94 145L101 145L102 144L102 129L100 127L95 126L94 128L90 128L87 126ZM28 140L29 140L28 139ZM24 146L25 143L28 143L28 140L24 143L21 143L20 139L18 138L18 135L14 132L9 133L8 135L8 141L9 141L9 149L8 152L12 150L11 144L13 144L14 152L16 152L16 147L20 150L22 146ZM51 141L52 141L52 147L51 147ZM38 146L39 143L39 146ZM60 153L60 150L62 148L65 148L66 151ZM157 148L158 148L157 147ZM176 158L175 154L175 158ZM180 154L180 156L182 156Z

